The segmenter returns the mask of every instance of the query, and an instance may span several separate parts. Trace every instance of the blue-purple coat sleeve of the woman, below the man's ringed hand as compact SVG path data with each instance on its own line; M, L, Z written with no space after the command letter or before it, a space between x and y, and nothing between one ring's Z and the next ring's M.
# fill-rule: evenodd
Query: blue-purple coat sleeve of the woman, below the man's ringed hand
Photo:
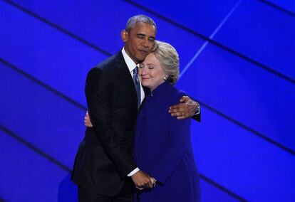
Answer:
M182 96L180 96L182 97ZM180 98L179 98L180 99ZM179 100L177 99L177 100ZM150 175L165 184L165 181L180 164L182 156L190 147L190 122L191 119L176 119L168 115L167 128L170 141L167 142L165 154L162 159L152 166Z

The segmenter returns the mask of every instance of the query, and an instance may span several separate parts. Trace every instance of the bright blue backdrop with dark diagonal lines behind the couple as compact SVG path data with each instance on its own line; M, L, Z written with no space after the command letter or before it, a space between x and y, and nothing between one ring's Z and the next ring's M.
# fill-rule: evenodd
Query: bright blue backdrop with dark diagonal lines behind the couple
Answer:
M295 201L295 1L279 0L0 1L0 201L77 201L86 74L135 14L201 104L202 201Z

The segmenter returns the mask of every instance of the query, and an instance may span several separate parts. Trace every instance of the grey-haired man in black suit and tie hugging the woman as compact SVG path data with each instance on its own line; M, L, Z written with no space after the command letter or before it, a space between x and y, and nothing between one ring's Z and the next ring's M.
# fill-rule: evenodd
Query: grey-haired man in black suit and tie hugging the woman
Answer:
M148 174L133 162L133 133L145 97L138 63L152 51L155 33L150 17L131 17L121 32L123 49L88 73L85 90L93 127L86 129L72 175L79 201L132 201L133 183L137 188L152 186ZM172 112L185 117L192 108L175 107Z

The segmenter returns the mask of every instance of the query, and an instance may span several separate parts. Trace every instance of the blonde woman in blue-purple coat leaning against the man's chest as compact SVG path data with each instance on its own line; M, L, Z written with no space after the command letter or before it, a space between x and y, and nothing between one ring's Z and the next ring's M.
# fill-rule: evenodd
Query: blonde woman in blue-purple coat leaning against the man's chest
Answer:
M199 174L190 140L190 119L171 117L168 109L185 95L174 85L179 75L177 51L157 41L157 48L140 64L140 80L150 89L135 132L135 163L156 180L138 192L145 201L200 201Z

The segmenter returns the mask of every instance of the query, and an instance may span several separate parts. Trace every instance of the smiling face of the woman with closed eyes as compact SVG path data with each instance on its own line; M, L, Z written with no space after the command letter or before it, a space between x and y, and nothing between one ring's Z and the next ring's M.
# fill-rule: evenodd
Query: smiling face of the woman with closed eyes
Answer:
M154 53L148 54L143 63L140 63L138 73L141 84L150 90L155 90L158 85L164 82L165 73Z

